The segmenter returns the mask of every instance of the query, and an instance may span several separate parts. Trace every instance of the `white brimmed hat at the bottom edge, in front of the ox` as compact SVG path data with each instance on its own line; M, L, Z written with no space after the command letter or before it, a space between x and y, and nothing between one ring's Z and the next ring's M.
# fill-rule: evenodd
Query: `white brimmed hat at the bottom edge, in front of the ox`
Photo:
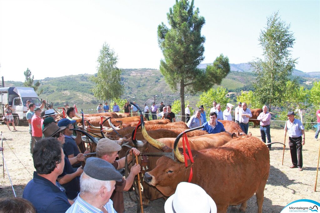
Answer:
M200 186L181 182L176 192L164 203L165 213L217 212L217 206L212 198Z

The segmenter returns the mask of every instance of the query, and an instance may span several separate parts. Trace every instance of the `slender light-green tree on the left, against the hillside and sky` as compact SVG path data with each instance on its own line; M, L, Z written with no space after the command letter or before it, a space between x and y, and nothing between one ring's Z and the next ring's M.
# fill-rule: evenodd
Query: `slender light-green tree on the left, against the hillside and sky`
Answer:
M121 84L120 76L123 70L116 67L117 55L107 43L102 45L97 62L99 63L97 76L90 78L96 83L91 89L94 97L99 100L119 98L124 93L124 85Z

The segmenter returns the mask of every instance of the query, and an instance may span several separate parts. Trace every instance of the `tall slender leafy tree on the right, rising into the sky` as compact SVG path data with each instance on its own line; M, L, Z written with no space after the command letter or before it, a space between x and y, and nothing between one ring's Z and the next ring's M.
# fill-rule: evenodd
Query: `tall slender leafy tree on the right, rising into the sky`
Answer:
M286 25L274 13L267 19L267 27L261 30L259 42L263 49L264 59L256 58L250 64L257 73L253 84L255 97L261 104L279 106L284 99L286 82L292 74L296 60L291 58L295 38Z

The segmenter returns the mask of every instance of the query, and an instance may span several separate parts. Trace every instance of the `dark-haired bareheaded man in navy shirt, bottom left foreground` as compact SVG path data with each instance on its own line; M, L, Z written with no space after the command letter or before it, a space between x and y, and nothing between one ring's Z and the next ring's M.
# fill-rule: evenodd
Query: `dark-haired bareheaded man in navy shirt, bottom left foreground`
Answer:
M22 197L30 201L38 213L66 212L71 205L65 189L56 181L65 164L59 141L45 138L36 142L32 158L36 171Z

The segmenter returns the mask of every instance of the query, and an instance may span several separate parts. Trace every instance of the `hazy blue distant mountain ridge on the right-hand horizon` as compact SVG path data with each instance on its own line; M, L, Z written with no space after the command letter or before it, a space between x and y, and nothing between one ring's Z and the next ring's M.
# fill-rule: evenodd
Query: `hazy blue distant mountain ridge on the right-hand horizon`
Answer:
M198 68L205 69L207 65L212 65L212 63L209 64L200 64ZM234 72L252 72L253 69L249 63L241 63L241 64L230 64L230 71ZM306 78L320 78L320 72L302 72L297 69L293 69L292 72L293 76L300 76L300 77L306 77Z

